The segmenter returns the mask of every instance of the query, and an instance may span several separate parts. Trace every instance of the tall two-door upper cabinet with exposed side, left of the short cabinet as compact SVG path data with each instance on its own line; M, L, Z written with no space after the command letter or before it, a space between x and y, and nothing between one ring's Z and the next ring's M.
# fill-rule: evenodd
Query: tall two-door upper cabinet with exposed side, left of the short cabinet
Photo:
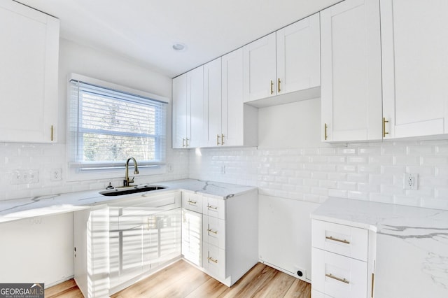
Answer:
M243 50L204 65L204 146L258 146L258 109L243 103Z

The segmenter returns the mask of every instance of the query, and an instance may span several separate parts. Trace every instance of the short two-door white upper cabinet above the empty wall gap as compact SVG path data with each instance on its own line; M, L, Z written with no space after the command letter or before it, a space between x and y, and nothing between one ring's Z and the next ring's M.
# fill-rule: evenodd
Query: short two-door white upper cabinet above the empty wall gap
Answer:
M319 49L318 13L244 46L244 102L273 106L318 97ZM269 99L297 91L303 92Z

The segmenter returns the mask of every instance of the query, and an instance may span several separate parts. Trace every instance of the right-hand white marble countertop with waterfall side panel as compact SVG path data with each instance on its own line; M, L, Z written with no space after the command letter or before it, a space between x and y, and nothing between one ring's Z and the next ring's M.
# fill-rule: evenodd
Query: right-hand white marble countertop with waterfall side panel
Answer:
M329 198L311 218L376 232L375 297L448 297L448 211Z

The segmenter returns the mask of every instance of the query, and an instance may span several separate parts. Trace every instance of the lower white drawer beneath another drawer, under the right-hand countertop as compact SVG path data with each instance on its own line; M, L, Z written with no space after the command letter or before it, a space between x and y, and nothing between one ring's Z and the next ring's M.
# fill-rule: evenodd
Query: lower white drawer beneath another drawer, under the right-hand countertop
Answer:
M313 290L334 298L367 297L367 262L312 248L311 263Z

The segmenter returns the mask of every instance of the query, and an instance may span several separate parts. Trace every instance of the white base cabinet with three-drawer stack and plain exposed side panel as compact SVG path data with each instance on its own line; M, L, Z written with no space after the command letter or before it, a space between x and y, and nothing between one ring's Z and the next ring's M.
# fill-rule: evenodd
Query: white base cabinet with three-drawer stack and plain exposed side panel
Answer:
M258 262L257 190L225 198L191 192L182 195L184 214L194 213L194 218L202 216L200 232L198 225L189 225L193 228L183 231L183 236L189 237L188 241L182 239L183 256L230 287ZM197 247L198 239L201 239L202 248L198 248L200 254L195 255L191 248ZM194 246L191 243L195 243Z

